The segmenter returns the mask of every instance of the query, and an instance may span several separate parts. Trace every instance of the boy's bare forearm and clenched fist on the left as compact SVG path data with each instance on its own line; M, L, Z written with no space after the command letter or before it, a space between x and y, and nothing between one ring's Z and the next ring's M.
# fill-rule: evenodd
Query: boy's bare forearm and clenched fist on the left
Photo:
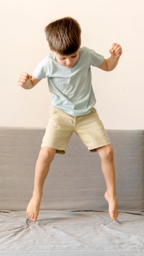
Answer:
M18 77L18 85L20 85L24 89L33 88L41 79L36 79L33 74L29 75L26 72L22 72Z

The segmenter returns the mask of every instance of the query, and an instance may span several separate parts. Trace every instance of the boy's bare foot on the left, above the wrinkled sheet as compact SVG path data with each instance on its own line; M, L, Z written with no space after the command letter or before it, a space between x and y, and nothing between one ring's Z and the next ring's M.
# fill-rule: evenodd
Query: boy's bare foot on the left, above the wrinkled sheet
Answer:
M38 198L38 197L34 196L34 194L33 194L32 198L28 204L28 207L27 207L27 216L32 221L36 221L38 218L40 202L41 202L41 198Z

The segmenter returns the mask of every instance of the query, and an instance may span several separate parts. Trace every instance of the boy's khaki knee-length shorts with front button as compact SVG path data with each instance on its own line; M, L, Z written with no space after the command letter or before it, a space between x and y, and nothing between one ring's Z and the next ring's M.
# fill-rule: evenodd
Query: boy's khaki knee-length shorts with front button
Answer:
M73 132L91 152L111 144L95 108L88 115L71 116L51 107L49 124L41 147L55 148L56 153L64 154Z

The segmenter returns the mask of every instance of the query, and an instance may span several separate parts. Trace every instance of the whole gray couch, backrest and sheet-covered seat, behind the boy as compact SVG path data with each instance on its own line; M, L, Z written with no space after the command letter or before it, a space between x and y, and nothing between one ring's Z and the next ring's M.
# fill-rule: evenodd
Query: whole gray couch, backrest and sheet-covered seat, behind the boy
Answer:
M42 129L0 128L0 255L143 256L144 131L108 130L119 216L104 199L100 158L73 134L56 155L36 222L26 215Z

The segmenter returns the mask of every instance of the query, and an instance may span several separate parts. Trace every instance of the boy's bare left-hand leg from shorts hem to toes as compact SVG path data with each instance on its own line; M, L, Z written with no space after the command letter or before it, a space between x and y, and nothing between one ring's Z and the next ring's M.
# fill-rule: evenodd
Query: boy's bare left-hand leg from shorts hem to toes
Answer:
M44 181L49 172L49 167L53 158L55 157L56 150L53 148L41 148L38 160L35 166L35 179L34 179L34 190L33 196L27 207L27 216L35 221L38 218L40 209L40 202L43 193Z

